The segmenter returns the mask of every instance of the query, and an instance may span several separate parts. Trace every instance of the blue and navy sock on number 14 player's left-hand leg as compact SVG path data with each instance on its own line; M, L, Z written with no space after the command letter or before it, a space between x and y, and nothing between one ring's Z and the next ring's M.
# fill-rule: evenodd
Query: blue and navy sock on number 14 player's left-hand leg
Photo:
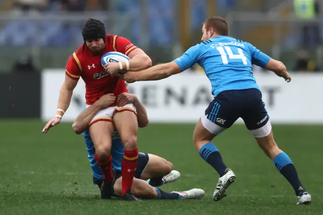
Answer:
M219 173L220 177L224 176L227 166L223 163L222 156L215 145L208 142L201 147L199 153Z

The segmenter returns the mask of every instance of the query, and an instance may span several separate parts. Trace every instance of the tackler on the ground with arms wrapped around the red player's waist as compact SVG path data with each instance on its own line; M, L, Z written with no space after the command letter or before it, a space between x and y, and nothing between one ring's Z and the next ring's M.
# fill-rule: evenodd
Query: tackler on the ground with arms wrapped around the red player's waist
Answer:
M93 117L101 108L111 105L117 100L118 106L124 106L128 103L133 103L134 109L137 112L137 119L139 127L148 125L147 112L139 99L134 94L122 93L116 98L114 94L106 94L99 98L94 104L83 111L75 120L73 130L77 134L83 134L88 151L88 158L90 161L93 183L102 189L103 173L99 168L95 158L95 148L88 131L88 125L91 123ZM113 192L115 197L122 195L122 174L121 162L124 156L124 146L120 135L117 131L112 137L112 166L114 172ZM145 199L186 199L186 198L201 198L204 196L204 191L201 189L191 189L188 191L171 193L165 192L158 188L159 186L176 181L180 177L178 171L173 170L172 163L157 155L139 153L138 163L135 169L135 178L133 180L131 191L134 196ZM147 180L147 181L145 181Z

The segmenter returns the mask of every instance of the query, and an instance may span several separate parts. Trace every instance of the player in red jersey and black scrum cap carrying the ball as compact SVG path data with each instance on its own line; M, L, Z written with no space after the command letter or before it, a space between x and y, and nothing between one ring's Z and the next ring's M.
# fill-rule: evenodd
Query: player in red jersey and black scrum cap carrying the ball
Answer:
M151 66L150 58L143 50L137 48L128 39L117 35L106 34L104 24L95 19L89 19L82 29L84 43L69 58L66 75L60 90L58 110L55 118L50 120L45 128L48 129L61 122L63 114L68 109L73 89L80 77L86 85L87 107L106 93L115 96L128 92L124 80L114 78L109 73L117 71L138 71ZM105 69L101 65L101 57L109 51L119 51L127 55L128 63L109 63ZM96 152L95 160L99 164L104 181L101 186L101 198L111 198L113 192L112 157L110 154L112 134L116 129L124 143L125 152L122 160L122 197L125 200L136 200L131 193L131 185L135 174L138 158L137 132L138 123L133 104L119 107L114 102L110 107L100 110L89 125Z

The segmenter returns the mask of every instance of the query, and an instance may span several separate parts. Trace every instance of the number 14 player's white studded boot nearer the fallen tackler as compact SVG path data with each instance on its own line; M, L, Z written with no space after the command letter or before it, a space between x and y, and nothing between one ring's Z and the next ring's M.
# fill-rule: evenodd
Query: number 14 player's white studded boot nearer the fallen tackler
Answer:
M235 181L236 175L233 173L232 170L227 169L225 175L219 178L217 188L213 192L213 200L219 201L226 197L226 190Z

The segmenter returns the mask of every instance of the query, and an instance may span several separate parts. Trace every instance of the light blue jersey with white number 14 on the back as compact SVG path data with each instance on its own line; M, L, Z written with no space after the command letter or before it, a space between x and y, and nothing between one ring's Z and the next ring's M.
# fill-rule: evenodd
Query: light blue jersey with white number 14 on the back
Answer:
M182 71L199 64L211 82L213 96L217 96L225 90L259 89L252 64L264 68L270 59L248 42L218 36L189 48L174 62Z

